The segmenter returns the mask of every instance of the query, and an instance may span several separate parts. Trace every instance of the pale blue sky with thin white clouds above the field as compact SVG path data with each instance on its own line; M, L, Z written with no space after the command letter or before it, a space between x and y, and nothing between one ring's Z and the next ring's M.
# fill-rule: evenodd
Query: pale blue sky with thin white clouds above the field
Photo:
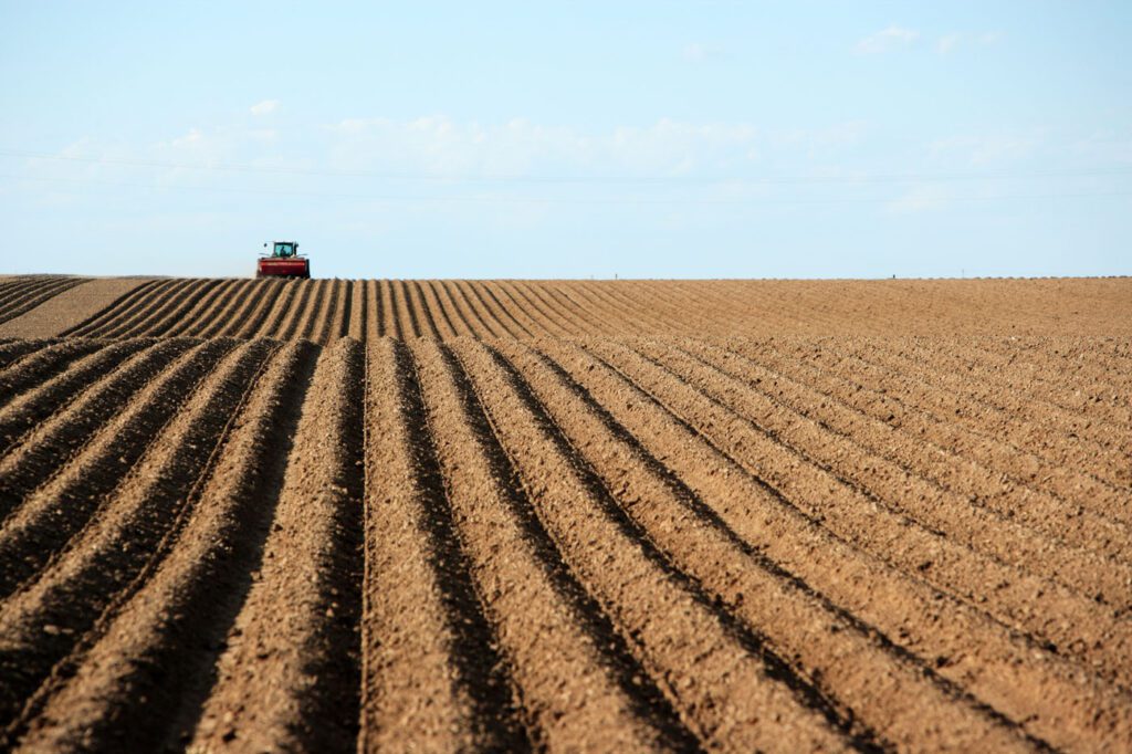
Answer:
M1132 3L0 0L0 274L1132 274Z

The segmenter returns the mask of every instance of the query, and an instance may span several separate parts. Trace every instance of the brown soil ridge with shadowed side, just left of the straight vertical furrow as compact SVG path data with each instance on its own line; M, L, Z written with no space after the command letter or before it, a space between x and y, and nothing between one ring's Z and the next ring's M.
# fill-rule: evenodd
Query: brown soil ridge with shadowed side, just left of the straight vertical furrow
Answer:
M354 748L363 379L357 341L323 351L263 566L229 632L190 748Z

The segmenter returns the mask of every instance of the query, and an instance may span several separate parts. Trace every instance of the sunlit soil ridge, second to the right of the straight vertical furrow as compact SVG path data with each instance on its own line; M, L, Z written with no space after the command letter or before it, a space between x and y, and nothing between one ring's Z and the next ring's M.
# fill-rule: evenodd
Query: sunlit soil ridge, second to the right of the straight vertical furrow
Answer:
M413 354L447 498L533 743L641 749L671 740L672 726L649 704L659 694L628 670L624 644L601 629L602 615L558 559L455 361L436 341L414 341Z

